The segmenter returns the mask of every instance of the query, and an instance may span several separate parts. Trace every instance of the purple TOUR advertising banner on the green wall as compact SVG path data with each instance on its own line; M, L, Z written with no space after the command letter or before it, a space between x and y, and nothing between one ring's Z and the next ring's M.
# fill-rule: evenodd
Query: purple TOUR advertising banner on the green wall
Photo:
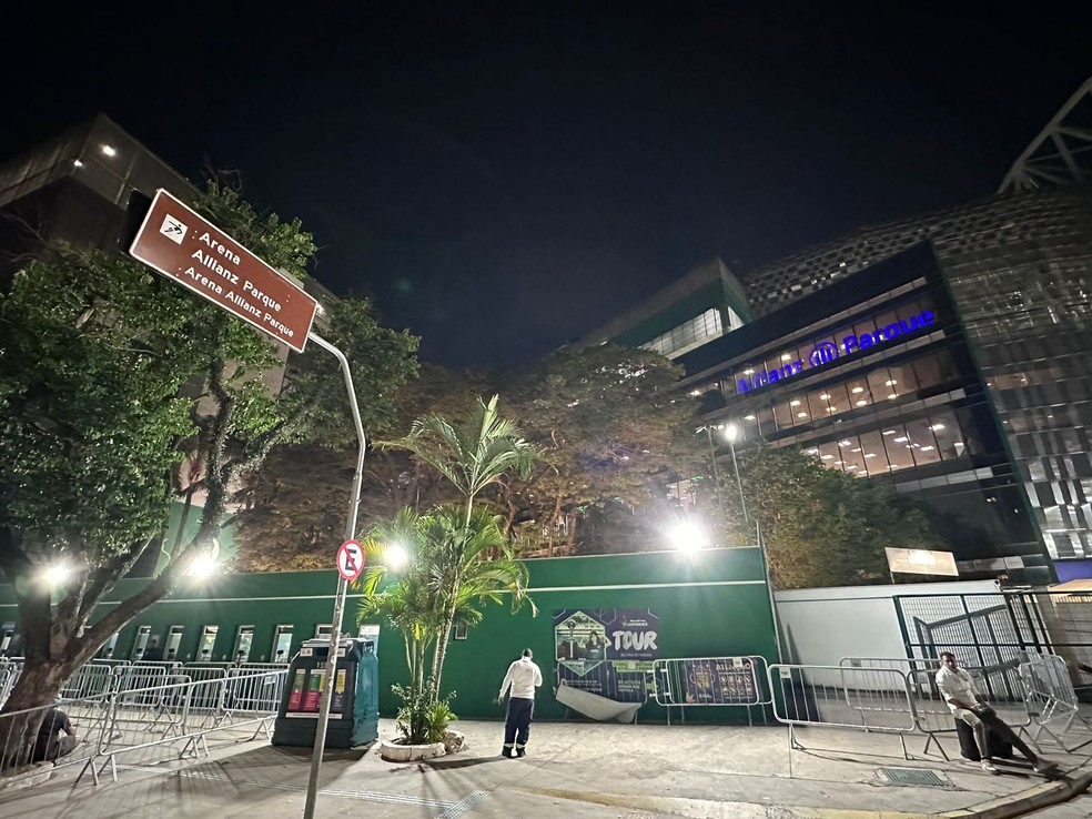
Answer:
M659 618L647 608L554 610L554 659L566 685L618 702L645 699L659 658Z

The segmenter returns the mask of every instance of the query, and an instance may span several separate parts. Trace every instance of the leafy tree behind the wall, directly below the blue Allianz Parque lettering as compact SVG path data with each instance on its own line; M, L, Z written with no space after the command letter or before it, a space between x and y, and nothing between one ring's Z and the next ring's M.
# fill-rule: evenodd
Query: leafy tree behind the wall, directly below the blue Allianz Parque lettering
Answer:
M828 469L799 449L764 446L740 454L739 472L751 523L744 523L735 477L722 475L729 539L754 543L758 522L777 588L881 583L888 577L884 546L940 545L917 504L881 481Z

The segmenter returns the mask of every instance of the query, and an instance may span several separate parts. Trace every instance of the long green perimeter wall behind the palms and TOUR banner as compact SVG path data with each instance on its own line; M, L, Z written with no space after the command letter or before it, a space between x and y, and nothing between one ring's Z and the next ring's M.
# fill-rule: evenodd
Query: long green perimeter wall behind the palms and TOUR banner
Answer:
M659 651L668 657L761 655L776 661L769 596L757 548L709 549L695 553L653 552L529 560L530 595L538 616L525 606L512 615L506 606L486 609L483 623L465 640L452 640L444 669L445 691L456 691L453 708L466 718L501 718L494 702L508 664L529 647L543 669L536 717L566 716L553 696L554 634L552 615L564 608L648 608L659 618ZM185 626L183 659L192 659L205 625L219 624L215 660L228 660L235 630L255 627L251 659L266 661L277 624L294 624L293 653L314 636L315 625L333 614L337 574L301 572L264 575L221 575L188 578L168 599L138 616L118 640L115 657L128 657L138 626L150 625L165 635L173 625ZM109 596L114 601L139 588L127 580ZM356 633L358 594L350 593L344 630ZM18 620L11 589L0 586L0 620ZM110 608L109 603L103 609ZM383 627L378 645L380 709L393 715L396 701L391 684L407 678L402 636ZM729 720L739 709L702 709L699 718ZM690 715L688 715L690 716ZM641 721L663 719L649 704Z

